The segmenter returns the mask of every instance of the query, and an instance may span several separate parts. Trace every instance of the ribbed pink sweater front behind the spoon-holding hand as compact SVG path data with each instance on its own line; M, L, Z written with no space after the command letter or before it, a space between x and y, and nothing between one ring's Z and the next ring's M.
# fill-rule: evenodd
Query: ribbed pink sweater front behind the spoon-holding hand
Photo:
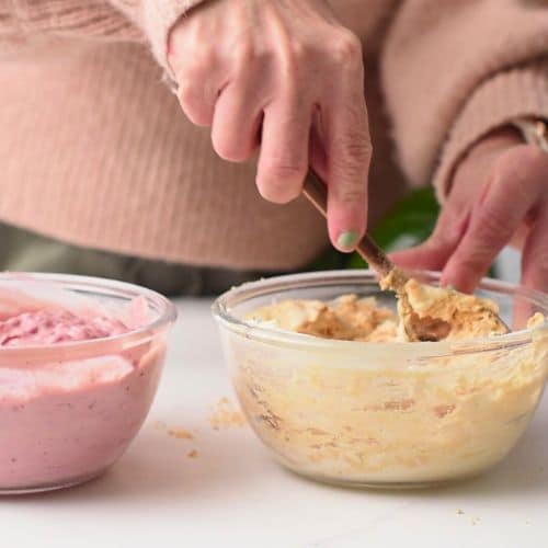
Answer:
M139 46L69 49L45 80L42 65L1 69L10 103L0 119L11 128L0 139L2 219L77 244L233 267L293 267L326 243L308 204L265 203L252 165L215 156Z

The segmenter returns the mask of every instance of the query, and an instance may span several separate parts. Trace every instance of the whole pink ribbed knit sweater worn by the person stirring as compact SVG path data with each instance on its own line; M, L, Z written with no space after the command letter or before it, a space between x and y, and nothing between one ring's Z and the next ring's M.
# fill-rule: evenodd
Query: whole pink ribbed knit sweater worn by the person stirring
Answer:
M326 246L308 204L263 202L254 167L218 159L162 83L169 31L198 2L0 0L1 220L239 269L298 267ZM392 157L443 197L479 137L548 117L548 2L331 3L366 53L373 218L403 192Z

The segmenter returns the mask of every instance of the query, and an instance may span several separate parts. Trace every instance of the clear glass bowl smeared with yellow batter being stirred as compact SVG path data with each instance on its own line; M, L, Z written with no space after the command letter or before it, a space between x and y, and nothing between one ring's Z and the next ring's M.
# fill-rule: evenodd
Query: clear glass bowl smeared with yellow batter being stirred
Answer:
M525 324L534 312L547 315L547 296L482 281L477 295L496 301L517 331L461 342L333 341L244 320L275 301L349 293L396 308L369 271L264 279L214 305L240 404L276 458L316 480L383 488L467 478L504 458L545 387L548 324Z

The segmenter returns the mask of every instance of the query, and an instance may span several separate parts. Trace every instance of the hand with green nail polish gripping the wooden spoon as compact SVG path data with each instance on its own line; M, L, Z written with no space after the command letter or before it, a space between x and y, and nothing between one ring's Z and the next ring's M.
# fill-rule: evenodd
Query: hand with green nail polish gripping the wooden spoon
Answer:
M367 222L372 146L358 38L326 0L215 0L172 30L169 62L189 118L217 153L251 158L275 203L296 198L309 164L328 182L332 242L352 251Z

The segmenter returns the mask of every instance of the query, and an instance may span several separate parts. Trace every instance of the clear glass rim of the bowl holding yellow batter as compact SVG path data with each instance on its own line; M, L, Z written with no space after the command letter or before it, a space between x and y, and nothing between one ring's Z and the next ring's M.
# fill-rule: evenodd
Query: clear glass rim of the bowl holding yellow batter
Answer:
M407 271L409 275L439 279L441 272L437 271ZM363 342L363 341L340 341L333 339L321 339L318 336L294 333L272 327L260 326L258 323L241 320L230 312L229 301L239 298L235 305L239 305L261 295L275 294L279 290L298 289L308 287L321 287L322 285L345 283L356 283L358 281L370 282L377 281L378 276L369 269L365 270L333 270L320 272L305 272L298 274L286 274L261 278L254 282L247 282L239 286L232 287L220 295L212 306L214 318L221 326L227 327L232 332L237 332L248 339L261 340L263 342L275 343L277 345L289 345L298 347L316 347L316 349L338 349L340 351L358 350L372 351L379 350L396 350L409 352L415 356L432 357L445 356L455 354L478 353L483 351L493 351L522 346L532 342L534 332L538 330L548 330L548 320L540 326L534 328L525 328L518 331L513 331L498 336L483 336L467 339L463 341L437 341L437 342L407 342L391 341L386 343ZM308 283L305 285L305 283ZM548 311L548 295L540 292L529 289L520 284L512 284L490 277L483 277L479 285L480 288L488 290L506 290L509 293L518 293L533 304ZM546 313L546 312L545 312Z

